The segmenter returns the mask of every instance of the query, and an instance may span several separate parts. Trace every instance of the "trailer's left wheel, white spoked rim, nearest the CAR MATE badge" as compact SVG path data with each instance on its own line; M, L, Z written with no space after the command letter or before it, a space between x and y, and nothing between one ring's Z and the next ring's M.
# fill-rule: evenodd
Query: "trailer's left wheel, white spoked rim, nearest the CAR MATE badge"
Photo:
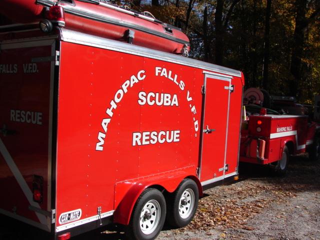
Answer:
M162 229L166 205L163 194L155 188L145 189L135 202L126 236L129 239L151 240Z

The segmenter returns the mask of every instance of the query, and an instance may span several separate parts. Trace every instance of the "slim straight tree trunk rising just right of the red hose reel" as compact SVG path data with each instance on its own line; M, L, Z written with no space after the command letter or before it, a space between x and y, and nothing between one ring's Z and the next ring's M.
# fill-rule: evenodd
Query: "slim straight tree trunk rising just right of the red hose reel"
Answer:
M263 88L269 90L268 70L269 70L269 52L270 52L270 14L271 14L271 0L266 0L265 13L265 29L264 29L264 50L263 50Z

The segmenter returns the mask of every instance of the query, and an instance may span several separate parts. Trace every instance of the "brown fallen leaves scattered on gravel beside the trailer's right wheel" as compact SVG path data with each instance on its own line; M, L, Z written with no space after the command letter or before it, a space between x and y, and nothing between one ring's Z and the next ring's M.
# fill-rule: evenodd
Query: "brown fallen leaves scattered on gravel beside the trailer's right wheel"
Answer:
M191 223L175 231L209 231L214 228L240 228L251 231L253 227L248 226L247 222L254 215L261 213L270 204L285 203L288 198L296 197L297 192L310 189L312 180L307 177L308 172L314 172L312 163L306 164L304 171L299 175L291 173L292 176L284 178L246 179L245 183L239 181L236 184L209 189L205 192L207 195L199 200L198 210ZM281 212L274 217L285 218Z

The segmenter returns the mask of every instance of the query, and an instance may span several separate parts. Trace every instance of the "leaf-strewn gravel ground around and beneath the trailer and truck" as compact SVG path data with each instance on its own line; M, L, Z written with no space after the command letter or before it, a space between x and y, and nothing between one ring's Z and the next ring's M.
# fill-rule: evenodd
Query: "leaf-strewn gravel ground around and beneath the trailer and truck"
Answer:
M189 225L178 229L165 225L157 240L320 240L319 161L308 161L303 154L294 156L285 177L274 175L268 167L252 164L240 165L239 173L237 182L205 191ZM12 224L0 224L0 239L44 239L35 236L30 227L23 232L16 229ZM118 228L109 228L73 239L125 237Z

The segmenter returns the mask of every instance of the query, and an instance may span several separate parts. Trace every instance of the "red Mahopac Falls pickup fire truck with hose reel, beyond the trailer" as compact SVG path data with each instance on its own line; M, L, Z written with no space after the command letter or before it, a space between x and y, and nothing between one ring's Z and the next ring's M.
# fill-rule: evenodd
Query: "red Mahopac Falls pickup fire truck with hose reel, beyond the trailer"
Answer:
M281 115L257 105L247 106L246 111L250 115L246 127L241 130L239 154L242 162L270 164L277 173L283 174L289 155L307 151L311 160L319 159L320 128L316 122L309 120L304 107L294 103L293 98L280 98L273 97L276 107L294 115ZM248 88L244 92L244 100L261 104L263 92Z

